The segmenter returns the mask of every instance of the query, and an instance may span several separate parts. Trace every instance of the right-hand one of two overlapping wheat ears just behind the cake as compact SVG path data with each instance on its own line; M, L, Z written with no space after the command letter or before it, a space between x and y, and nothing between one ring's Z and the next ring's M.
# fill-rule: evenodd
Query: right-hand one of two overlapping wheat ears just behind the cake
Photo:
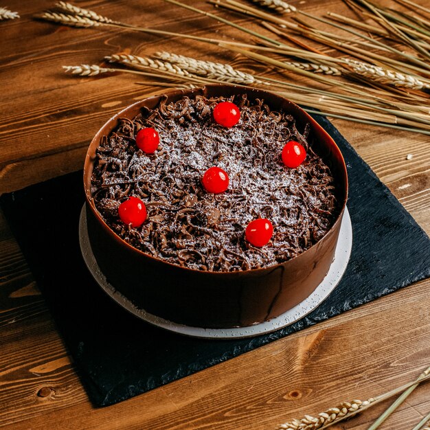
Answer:
M223 80L223 82L245 85L261 83L261 81L257 80L253 75L234 69L229 64L196 60L195 58L172 54L170 52L156 52L155 57L177 64L182 69L199 76L205 76L205 78L217 78Z

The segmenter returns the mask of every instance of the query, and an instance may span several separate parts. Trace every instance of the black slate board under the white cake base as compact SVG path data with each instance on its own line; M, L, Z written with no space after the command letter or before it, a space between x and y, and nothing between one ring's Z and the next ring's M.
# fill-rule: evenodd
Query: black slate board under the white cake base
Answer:
M183 337L146 324L93 281L80 254L82 172L1 196L0 203L95 405L170 383L430 276L430 240L337 129L350 180L353 246L335 291L313 313L251 339Z

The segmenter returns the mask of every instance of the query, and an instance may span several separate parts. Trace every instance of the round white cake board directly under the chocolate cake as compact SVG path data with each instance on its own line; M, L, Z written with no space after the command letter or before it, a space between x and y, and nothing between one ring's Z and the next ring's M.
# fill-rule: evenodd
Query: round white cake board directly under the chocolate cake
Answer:
M275 317L269 321L264 321L253 326L234 328L201 328L177 324L172 321L168 321L167 319L157 317L156 315L152 315L144 309L137 308L130 300L124 297L124 295L116 291L115 287L109 284L106 277L100 270L100 267L98 267L91 249L87 230L87 214L85 211L85 205L82 207L82 211L80 213L79 239L82 256L84 257L84 261L95 281L115 300L115 302L117 302L117 304L120 304L136 317L144 319L144 321L155 326L180 333L181 335L209 339L234 339L264 335L265 333L273 332L280 328L289 326L295 321L308 315L308 313L317 308L319 304L324 302L328 295L330 295L330 293L335 289L341 280L343 273L346 271L352 248L352 225L348 209L345 208L341 222L341 229L339 231L339 240L335 250L335 260L333 260L326 278L324 278L321 284L315 288L315 291L313 291L308 298L297 304L297 306L294 306L294 308L287 310L286 313L283 313L279 317Z

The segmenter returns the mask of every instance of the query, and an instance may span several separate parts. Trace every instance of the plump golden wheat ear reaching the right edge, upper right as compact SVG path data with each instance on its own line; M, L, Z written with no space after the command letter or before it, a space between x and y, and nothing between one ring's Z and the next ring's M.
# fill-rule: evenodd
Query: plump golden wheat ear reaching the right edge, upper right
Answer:
M408 75L407 73L400 73L398 71L385 69L384 67L375 66L363 63L357 60L345 60L348 65L352 67L355 73L358 73L365 78L381 82L382 84L394 85L395 87L403 87L408 89L429 89L430 85L423 82L415 76Z

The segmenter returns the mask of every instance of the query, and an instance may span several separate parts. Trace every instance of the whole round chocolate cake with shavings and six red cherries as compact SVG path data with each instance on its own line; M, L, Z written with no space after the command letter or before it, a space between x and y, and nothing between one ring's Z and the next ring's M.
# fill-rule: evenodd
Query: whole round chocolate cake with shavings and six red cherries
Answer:
M346 205L335 142L302 109L227 85L133 104L84 166L89 240L138 308L227 328L276 317L328 272Z

